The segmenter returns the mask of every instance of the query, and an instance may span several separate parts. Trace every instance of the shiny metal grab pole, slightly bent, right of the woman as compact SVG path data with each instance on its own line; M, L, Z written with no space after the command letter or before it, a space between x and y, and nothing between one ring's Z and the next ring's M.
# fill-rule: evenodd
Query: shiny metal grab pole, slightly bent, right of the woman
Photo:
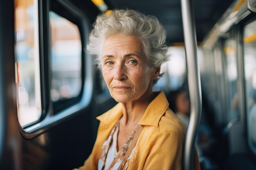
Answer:
M191 103L189 126L183 146L182 167L183 170L193 170L195 138L202 111L201 82L192 0L181 0L181 9Z

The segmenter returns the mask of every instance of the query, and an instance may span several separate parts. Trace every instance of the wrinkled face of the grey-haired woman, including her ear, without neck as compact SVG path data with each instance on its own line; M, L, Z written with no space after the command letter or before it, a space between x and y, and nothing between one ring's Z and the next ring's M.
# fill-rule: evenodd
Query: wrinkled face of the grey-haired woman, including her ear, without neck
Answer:
M139 38L115 34L103 42L102 50L103 78L117 102L137 100L151 90L159 72L150 67Z

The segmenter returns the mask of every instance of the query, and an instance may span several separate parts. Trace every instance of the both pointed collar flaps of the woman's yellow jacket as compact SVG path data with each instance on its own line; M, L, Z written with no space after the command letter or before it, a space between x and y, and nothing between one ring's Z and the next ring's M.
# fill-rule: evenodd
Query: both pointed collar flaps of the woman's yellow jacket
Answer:
M140 125L150 125L158 127L158 123L168 108L168 101L164 92L160 92L156 98L148 105L144 115L139 121ZM108 112L98 116L97 119L103 124L116 123L123 115L122 104L118 103Z

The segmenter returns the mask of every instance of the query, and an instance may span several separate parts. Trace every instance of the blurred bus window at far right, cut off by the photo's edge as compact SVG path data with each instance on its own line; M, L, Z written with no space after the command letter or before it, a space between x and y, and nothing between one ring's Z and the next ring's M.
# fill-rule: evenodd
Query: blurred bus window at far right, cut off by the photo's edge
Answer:
M256 20L244 28L245 85L249 147L256 154Z

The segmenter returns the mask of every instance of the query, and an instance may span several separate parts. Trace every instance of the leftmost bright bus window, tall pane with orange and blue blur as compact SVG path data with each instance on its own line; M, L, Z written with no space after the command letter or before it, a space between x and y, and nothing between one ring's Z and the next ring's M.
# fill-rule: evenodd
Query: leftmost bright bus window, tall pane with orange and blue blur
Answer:
M15 56L18 84L18 118L21 126L41 116L40 67L38 45L38 4L15 0Z

